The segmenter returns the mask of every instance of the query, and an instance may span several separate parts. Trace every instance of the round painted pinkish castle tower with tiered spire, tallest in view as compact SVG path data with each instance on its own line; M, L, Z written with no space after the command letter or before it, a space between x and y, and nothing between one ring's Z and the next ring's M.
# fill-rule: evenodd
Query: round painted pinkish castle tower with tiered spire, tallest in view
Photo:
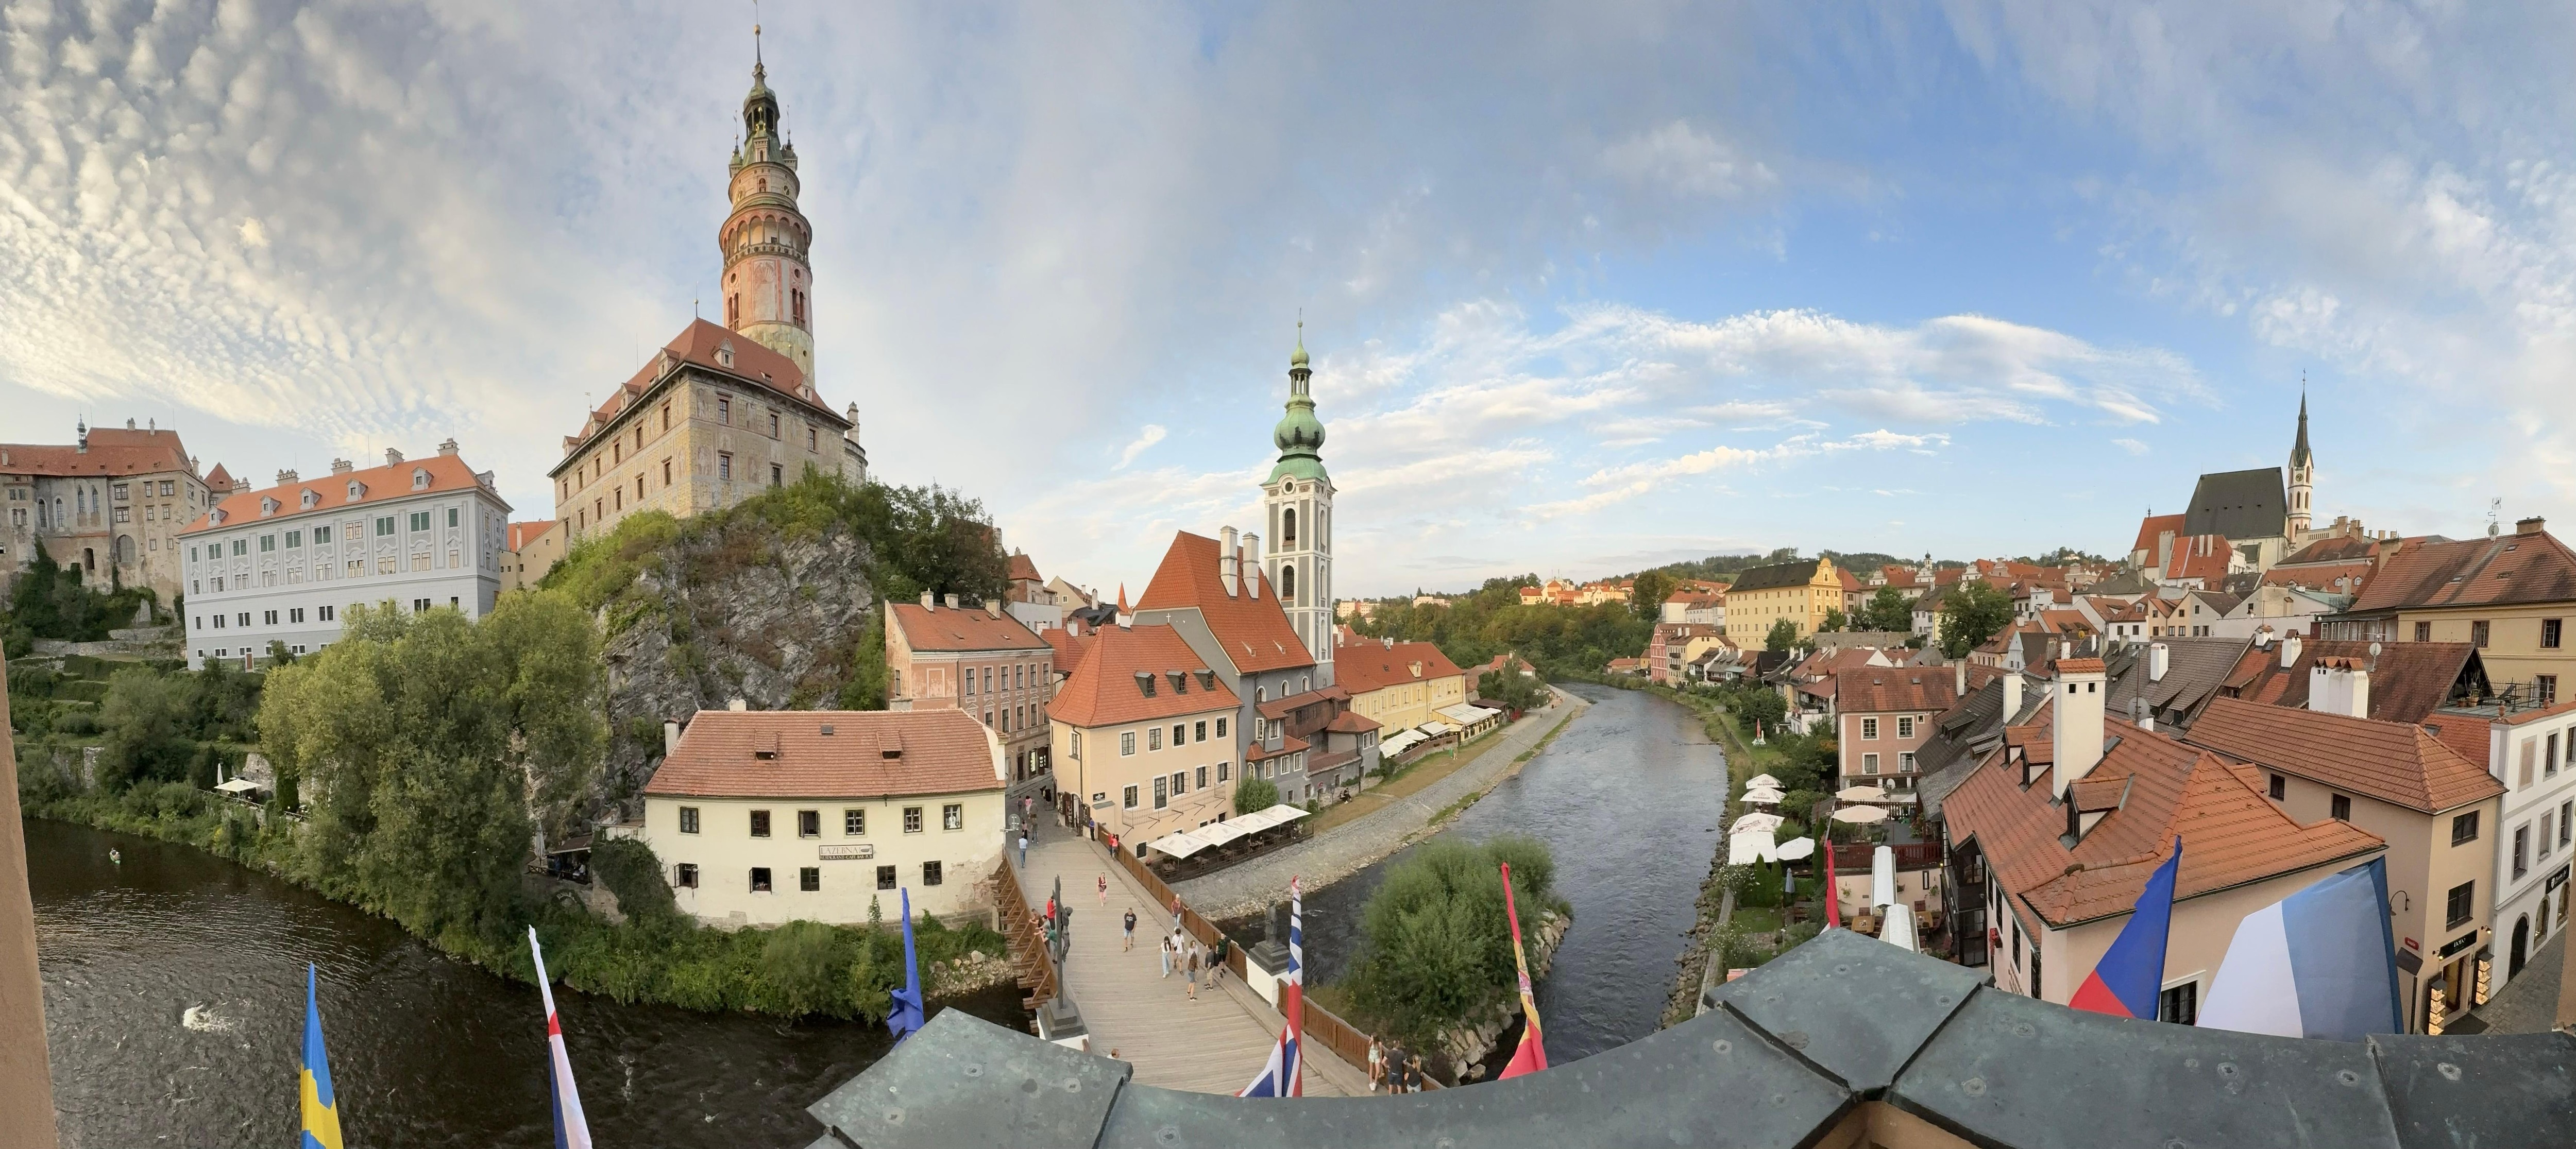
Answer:
M778 126L778 95L752 28L752 93L734 147L734 211L716 229L724 252L724 325L791 361L814 381L814 227L796 211L796 144Z

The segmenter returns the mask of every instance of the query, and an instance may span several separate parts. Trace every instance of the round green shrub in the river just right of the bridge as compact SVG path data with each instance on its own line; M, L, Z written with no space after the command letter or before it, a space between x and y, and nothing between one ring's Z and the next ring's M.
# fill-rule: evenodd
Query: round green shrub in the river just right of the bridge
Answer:
M1376 1033L1427 1046L1515 992L1502 863L1512 866L1522 930L1535 930L1540 915L1571 915L1553 894L1556 858L1535 837L1435 837L1386 871L1360 909L1360 953L1347 979L1352 1007Z

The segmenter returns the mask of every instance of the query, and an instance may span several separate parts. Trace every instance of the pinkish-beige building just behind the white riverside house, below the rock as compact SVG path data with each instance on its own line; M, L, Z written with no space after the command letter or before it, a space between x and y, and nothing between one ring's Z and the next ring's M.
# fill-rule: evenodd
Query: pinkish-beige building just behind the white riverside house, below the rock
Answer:
M1056 647L1002 611L1002 600L961 608L948 595L940 605L925 590L920 603L886 603L886 708L958 708L992 726L1010 760L1012 804L1051 801L1054 670Z

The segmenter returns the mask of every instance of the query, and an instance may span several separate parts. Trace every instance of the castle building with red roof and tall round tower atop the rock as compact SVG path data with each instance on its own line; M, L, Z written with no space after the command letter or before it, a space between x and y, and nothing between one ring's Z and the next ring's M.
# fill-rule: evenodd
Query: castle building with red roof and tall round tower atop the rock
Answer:
M814 389L814 229L796 193L796 147L755 54L732 157L734 209L716 229L724 325L690 319L564 435L549 477L554 518L572 541L636 510L688 518L729 508L806 471L868 482L858 404L835 412Z

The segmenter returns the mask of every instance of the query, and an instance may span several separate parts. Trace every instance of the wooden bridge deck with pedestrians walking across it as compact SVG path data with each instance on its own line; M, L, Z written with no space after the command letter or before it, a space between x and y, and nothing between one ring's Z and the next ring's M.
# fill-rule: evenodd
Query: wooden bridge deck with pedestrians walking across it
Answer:
M1010 866L1020 863L1018 848ZM1100 876L1110 878L1108 907ZM1180 974L1162 976L1157 930L1172 933L1172 909L1154 907L1144 886L1113 863L1100 842L1074 837L1041 819L1028 845L1020 889L1043 909L1056 878L1074 909L1074 951L1064 961L1064 989L1092 1030L1092 1054L1136 1067L1136 1082L1190 1092L1234 1092L1260 1074L1285 1020L1234 974L1193 1002ZM1121 951L1121 917L1136 912L1136 948ZM1309 1043L1306 1095L1365 1095L1368 1074Z

